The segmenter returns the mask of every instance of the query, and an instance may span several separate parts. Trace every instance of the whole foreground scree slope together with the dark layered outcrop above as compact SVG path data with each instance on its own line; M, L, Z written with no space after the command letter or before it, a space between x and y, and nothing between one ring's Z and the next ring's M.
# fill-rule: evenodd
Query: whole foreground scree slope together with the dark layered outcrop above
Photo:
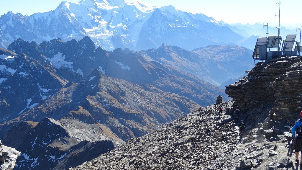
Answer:
M76 169L298 169L287 157L291 126L300 112L302 57L259 62L248 75L226 87L232 101L192 112L161 129ZM255 95L257 94L257 95ZM246 123L243 138L235 107Z

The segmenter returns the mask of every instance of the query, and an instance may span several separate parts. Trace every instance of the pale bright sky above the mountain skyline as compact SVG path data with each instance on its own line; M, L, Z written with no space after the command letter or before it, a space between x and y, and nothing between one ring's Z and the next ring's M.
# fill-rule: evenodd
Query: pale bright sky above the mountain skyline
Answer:
M79 2L79 0L68 0ZM203 13L226 23L278 25L279 5L276 0L140 0L156 7L173 5L178 10ZM13 11L23 15L54 10L62 0L0 0L0 15ZM291 27L302 24L302 0L277 0L281 2L281 25ZM300 8L295 8L300 7ZM299 12L300 11L300 12Z

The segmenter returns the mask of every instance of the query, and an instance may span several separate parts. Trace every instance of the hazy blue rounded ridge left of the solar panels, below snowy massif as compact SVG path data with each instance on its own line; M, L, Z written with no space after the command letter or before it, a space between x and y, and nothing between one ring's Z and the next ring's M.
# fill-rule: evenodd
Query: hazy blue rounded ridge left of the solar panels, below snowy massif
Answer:
M171 65L219 86L226 80L237 78L246 70L253 68L251 52L245 47L230 45L213 45L188 51L163 43L157 49L136 53L143 55L146 60Z

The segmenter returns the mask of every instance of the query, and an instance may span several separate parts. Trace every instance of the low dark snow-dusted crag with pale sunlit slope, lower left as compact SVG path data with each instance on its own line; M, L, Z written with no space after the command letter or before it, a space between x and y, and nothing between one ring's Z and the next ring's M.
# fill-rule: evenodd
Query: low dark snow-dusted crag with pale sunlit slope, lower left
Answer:
M45 118L27 131L16 146L22 154L14 169L66 169L124 143L110 129L94 123L91 115L82 110L71 112L58 121ZM24 125L18 125L16 129L22 127ZM20 139L12 132L7 136Z

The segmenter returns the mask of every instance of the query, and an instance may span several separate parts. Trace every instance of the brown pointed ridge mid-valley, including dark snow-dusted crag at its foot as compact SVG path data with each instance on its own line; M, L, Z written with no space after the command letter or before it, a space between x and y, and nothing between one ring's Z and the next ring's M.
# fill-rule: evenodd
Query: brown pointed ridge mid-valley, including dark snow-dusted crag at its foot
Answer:
M129 83L95 70L0 129L6 133L3 142L22 152L15 169L66 169L199 107L153 85Z

